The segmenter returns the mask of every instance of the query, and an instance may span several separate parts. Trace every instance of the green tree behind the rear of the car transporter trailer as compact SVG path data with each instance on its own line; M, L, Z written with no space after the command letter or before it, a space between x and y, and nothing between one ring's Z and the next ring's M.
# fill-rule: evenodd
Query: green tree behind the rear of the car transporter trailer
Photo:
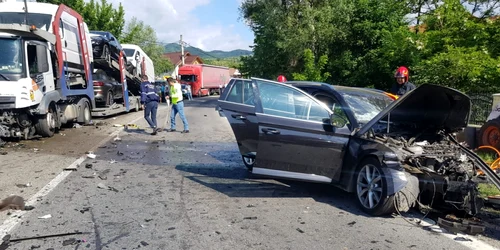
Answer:
M141 47L153 61L156 75L161 75L174 68L172 63L163 57L165 47L158 43L154 29L137 18L134 17L127 23L119 40L122 44L135 44Z

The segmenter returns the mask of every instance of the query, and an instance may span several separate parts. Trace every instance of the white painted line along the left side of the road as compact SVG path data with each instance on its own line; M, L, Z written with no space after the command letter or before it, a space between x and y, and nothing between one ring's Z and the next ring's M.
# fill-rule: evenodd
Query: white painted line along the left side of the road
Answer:
M165 108L159 108L158 111L160 110L163 110ZM139 121L140 119L144 119L143 116L140 116L130 122L128 122L127 124L133 124L137 121ZM124 129L124 127L121 127L119 128L118 130L116 130L115 132L111 133L109 135L109 137L103 139L102 141L100 141L96 146L94 146L90 151L94 151L96 150L97 148L99 148L100 146L104 145L105 143L107 143L111 137L115 137L117 135L120 134L120 132ZM87 156L84 155L84 156L81 156L80 158L78 158L76 161L74 161L73 163L71 163L68 168L75 168L75 167L78 167L80 164L82 164L83 161L85 161L85 159L87 159ZM30 205L30 206L34 206L37 201L39 201L39 199L43 198L44 196L48 195L52 190L54 190L57 185L59 185L59 183L63 182L64 179L66 179L66 177L68 177L71 172L73 171L62 171L61 173L59 173L54 179L52 179L47 185L45 185L42 189L40 189L40 191L38 191L35 195L31 196L27 201L26 201L26 205ZM2 239L10 233L10 231L12 231L19 223L22 222L23 218L24 218L24 214L26 214L28 211L13 211L11 216L6 219L2 225L0 225L0 241L2 241Z

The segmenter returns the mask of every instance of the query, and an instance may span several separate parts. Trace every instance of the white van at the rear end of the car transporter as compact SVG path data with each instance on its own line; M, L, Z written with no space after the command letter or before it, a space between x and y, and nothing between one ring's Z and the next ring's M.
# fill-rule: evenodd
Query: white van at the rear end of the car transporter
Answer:
M136 76L142 77L142 61L144 60L146 75L148 76L149 81L155 80L155 68L153 65L153 61L149 58L149 56L144 53L141 47L134 44L122 44L123 51L127 56L127 62L130 63L135 69L134 74Z

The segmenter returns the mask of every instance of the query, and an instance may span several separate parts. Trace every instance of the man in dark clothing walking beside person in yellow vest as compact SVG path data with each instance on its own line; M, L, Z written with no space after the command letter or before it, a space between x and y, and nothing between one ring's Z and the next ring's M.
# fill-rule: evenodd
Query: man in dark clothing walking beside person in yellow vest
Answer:
M148 77L144 75L141 83L141 104L144 109L144 118L149 126L153 129L151 135L158 133L156 127L156 111L158 110L158 101L160 97L156 93L155 85L148 81Z

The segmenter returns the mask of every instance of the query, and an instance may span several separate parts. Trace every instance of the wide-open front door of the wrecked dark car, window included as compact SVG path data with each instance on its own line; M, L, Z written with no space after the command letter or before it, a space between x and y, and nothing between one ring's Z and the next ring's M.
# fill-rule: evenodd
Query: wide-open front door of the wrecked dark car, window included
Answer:
M331 126L332 111L295 87L252 81L259 132L253 173L330 183L342 166L347 126Z

